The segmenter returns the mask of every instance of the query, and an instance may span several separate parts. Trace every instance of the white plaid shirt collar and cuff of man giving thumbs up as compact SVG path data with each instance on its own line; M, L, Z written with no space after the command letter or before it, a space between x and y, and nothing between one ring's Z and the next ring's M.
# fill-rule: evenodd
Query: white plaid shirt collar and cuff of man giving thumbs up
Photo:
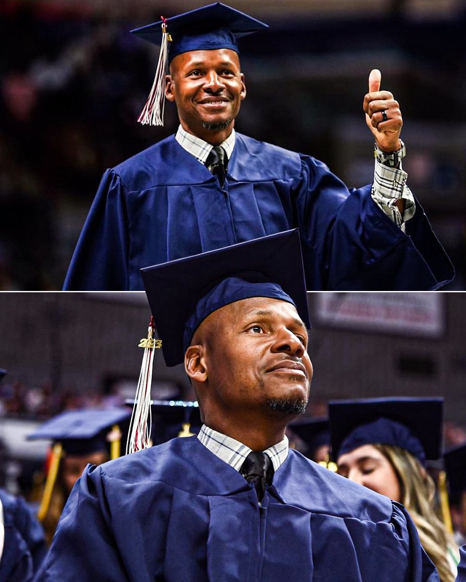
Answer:
M206 159L210 154L213 145L200 139L200 137L193 136L185 132L181 127L175 135L175 140L184 148L189 154L192 154L201 164L206 163ZM220 144L227 153L228 159L231 158L233 148L235 147L235 130L232 130L230 136ZM398 225L401 230L405 230L405 222L414 216L416 210L414 196L411 190L406 185L408 174L400 168L390 168L375 161L374 182L370 196L377 206L391 218L393 222ZM403 216L396 207L397 200L404 200L405 207Z

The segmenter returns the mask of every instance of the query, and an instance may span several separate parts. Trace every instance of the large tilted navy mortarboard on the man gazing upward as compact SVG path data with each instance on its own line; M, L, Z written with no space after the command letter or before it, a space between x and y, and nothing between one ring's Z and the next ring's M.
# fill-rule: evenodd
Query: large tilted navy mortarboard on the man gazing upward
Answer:
M182 363L202 321L249 297L296 307L310 328L298 229L141 269L167 365Z

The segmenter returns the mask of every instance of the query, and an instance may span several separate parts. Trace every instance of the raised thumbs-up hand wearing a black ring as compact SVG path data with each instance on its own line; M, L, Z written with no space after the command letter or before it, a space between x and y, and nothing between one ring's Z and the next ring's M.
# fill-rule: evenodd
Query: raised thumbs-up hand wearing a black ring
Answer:
M380 91L381 80L379 69L372 69L369 74L369 93L364 97L362 108L366 113L366 123L380 150L397 151L401 148L403 118L393 94L390 91Z

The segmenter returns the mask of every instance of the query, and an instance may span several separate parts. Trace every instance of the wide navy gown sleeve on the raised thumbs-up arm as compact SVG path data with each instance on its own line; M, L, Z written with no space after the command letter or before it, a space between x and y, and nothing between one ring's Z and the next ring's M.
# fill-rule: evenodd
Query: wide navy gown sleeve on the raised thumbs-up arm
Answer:
M406 233L370 196L302 157L295 198L308 290L435 290L454 268L416 200ZM316 258L318 257L318 258Z

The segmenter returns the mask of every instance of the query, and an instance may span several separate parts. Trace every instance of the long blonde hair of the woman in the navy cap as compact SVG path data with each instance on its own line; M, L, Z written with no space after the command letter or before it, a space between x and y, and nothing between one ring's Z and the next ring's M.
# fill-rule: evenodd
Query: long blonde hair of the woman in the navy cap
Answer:
M408 510L418 530L419 540L434 563L442 582L454 582L448 548L453 538L437 517L434 506L435 483L414 455L399 446L373 445L393 467L401 489L401 503Z

